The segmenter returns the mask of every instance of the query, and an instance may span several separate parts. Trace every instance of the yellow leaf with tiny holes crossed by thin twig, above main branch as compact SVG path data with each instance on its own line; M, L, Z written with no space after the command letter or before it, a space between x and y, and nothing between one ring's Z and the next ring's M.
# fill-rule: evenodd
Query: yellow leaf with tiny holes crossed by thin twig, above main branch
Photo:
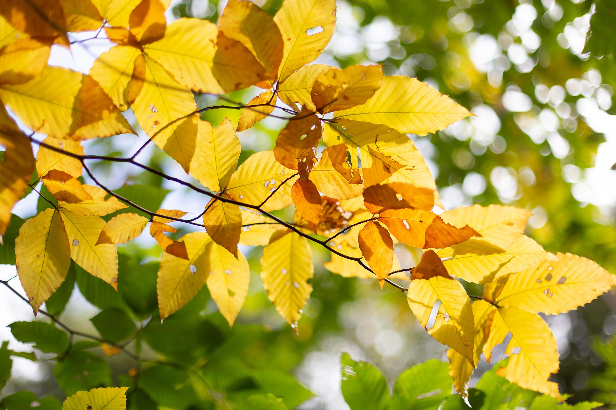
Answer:
M293 203L291 186L296 177L280 186L291 175L293 170L278 163L273 151L260 151L249 156L233 172L226 192L245 204L259 205L265 201L264 211L282 209Z

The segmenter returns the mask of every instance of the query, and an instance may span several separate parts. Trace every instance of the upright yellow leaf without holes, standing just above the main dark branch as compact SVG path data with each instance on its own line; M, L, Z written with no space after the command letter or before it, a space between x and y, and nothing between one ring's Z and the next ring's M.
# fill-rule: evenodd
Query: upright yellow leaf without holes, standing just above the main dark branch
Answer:
M240 139L233 124L225 118L217 128L207 121L198 122L197 145L190 174L204 187L220 192L229 185L237 160L240 158Z

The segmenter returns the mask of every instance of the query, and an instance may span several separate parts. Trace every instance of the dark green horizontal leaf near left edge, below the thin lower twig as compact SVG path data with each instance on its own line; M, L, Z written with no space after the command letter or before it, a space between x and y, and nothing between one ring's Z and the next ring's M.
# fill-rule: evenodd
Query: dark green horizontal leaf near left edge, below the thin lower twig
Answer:
M45 353L64 353L68 348L68 334L45 322L14 322L10 332L22 343L34 342L34 347Z

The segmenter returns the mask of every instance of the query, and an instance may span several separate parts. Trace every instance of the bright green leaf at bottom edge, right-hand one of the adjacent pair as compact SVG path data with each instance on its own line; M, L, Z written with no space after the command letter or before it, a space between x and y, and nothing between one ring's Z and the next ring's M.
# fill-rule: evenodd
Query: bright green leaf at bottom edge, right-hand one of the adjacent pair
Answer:
M438 409L452 392L449 366L437 359L413 366L395 381L391 410Z

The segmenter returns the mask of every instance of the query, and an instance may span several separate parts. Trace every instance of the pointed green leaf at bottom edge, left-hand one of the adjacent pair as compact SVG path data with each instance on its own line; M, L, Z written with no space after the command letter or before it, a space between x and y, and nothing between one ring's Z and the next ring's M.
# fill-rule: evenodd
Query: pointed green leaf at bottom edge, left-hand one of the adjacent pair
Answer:
M386 409L389 401L387 382L379 369L365 361L352 360L342 353L342 395L351 410Z

